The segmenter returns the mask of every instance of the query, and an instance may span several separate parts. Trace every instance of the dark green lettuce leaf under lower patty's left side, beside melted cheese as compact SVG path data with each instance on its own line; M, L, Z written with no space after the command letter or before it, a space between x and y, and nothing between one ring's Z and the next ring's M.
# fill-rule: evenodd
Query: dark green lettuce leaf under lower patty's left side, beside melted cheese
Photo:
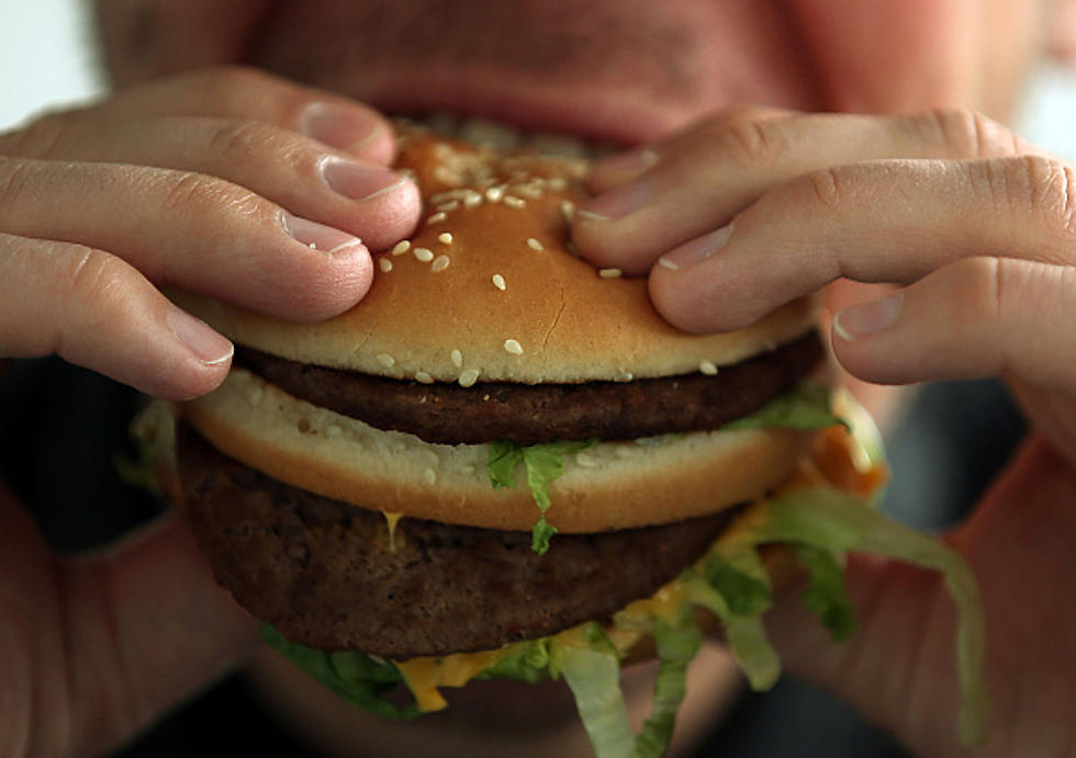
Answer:
M386 660L354 650L326 653L306 647L285 640L269 624L262 625L261 638L352 705L390 719L407 720L418 715L414 703L401 708L383 697L403 683L400 669Z

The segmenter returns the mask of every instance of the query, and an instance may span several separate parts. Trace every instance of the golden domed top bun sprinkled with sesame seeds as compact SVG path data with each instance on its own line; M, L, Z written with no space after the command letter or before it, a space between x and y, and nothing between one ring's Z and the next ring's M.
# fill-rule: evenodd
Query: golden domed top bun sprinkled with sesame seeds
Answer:
M474 147L402 127L397 166L423 219L376 256L370 292L320 324L284 324L195 295L180 305L236 342L281 358L393 378L628 381L728 365L811 328L797 301L747 329L687 335L653 309L645 279L598 271L570 251L589 196L583 161Z

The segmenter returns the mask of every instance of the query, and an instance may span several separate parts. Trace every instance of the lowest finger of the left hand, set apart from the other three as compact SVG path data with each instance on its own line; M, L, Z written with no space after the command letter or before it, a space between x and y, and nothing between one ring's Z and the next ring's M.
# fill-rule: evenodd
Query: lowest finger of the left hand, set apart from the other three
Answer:
M53 352L178 400L223 382L233 348L114 256L0 234L0 355Z

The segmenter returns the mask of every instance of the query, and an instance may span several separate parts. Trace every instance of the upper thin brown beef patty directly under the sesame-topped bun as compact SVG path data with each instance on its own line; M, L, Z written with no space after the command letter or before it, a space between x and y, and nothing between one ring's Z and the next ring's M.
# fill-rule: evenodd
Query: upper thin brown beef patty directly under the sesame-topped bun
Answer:
M716 375L635 382L421 384L309 365L236 347L235 363L293 397L378 429L445 444L634 440L717 429L755 410L822 359L817 332Z

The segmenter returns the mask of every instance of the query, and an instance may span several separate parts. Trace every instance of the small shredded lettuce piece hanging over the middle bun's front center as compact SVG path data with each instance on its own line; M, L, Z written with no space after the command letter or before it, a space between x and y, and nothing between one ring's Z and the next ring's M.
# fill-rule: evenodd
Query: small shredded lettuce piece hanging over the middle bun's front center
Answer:
M527 473L527 487L530 497L541 516L530 532L530 550L545 555L549 550L549 540L557 533L557 528L546 521L549 510L549 483L564 475L564 456L578 453L597 444L597 440L543 442L541 444L520 445L507 440L494 440L490 443L490 457L486 468L494 489L516 486L516 466L520 463Z

